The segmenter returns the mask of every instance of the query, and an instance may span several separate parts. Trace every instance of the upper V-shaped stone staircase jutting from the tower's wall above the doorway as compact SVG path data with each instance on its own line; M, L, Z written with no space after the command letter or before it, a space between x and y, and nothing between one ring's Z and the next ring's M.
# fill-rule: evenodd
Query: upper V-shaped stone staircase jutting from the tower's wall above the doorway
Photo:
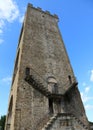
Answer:
M67 88L61 93L52 93L48 90L48 83L46 82L43 77L39 75L33 68L29 68L29 74L25 75L25 81L30 84L33 88L38 90L40 93L42 93L44 96L48 98L63 98L69 91L72 90L73 87L77 86L78 82L75 77L72 78L73 82L72 83L65 83L63 84L63 87Z

